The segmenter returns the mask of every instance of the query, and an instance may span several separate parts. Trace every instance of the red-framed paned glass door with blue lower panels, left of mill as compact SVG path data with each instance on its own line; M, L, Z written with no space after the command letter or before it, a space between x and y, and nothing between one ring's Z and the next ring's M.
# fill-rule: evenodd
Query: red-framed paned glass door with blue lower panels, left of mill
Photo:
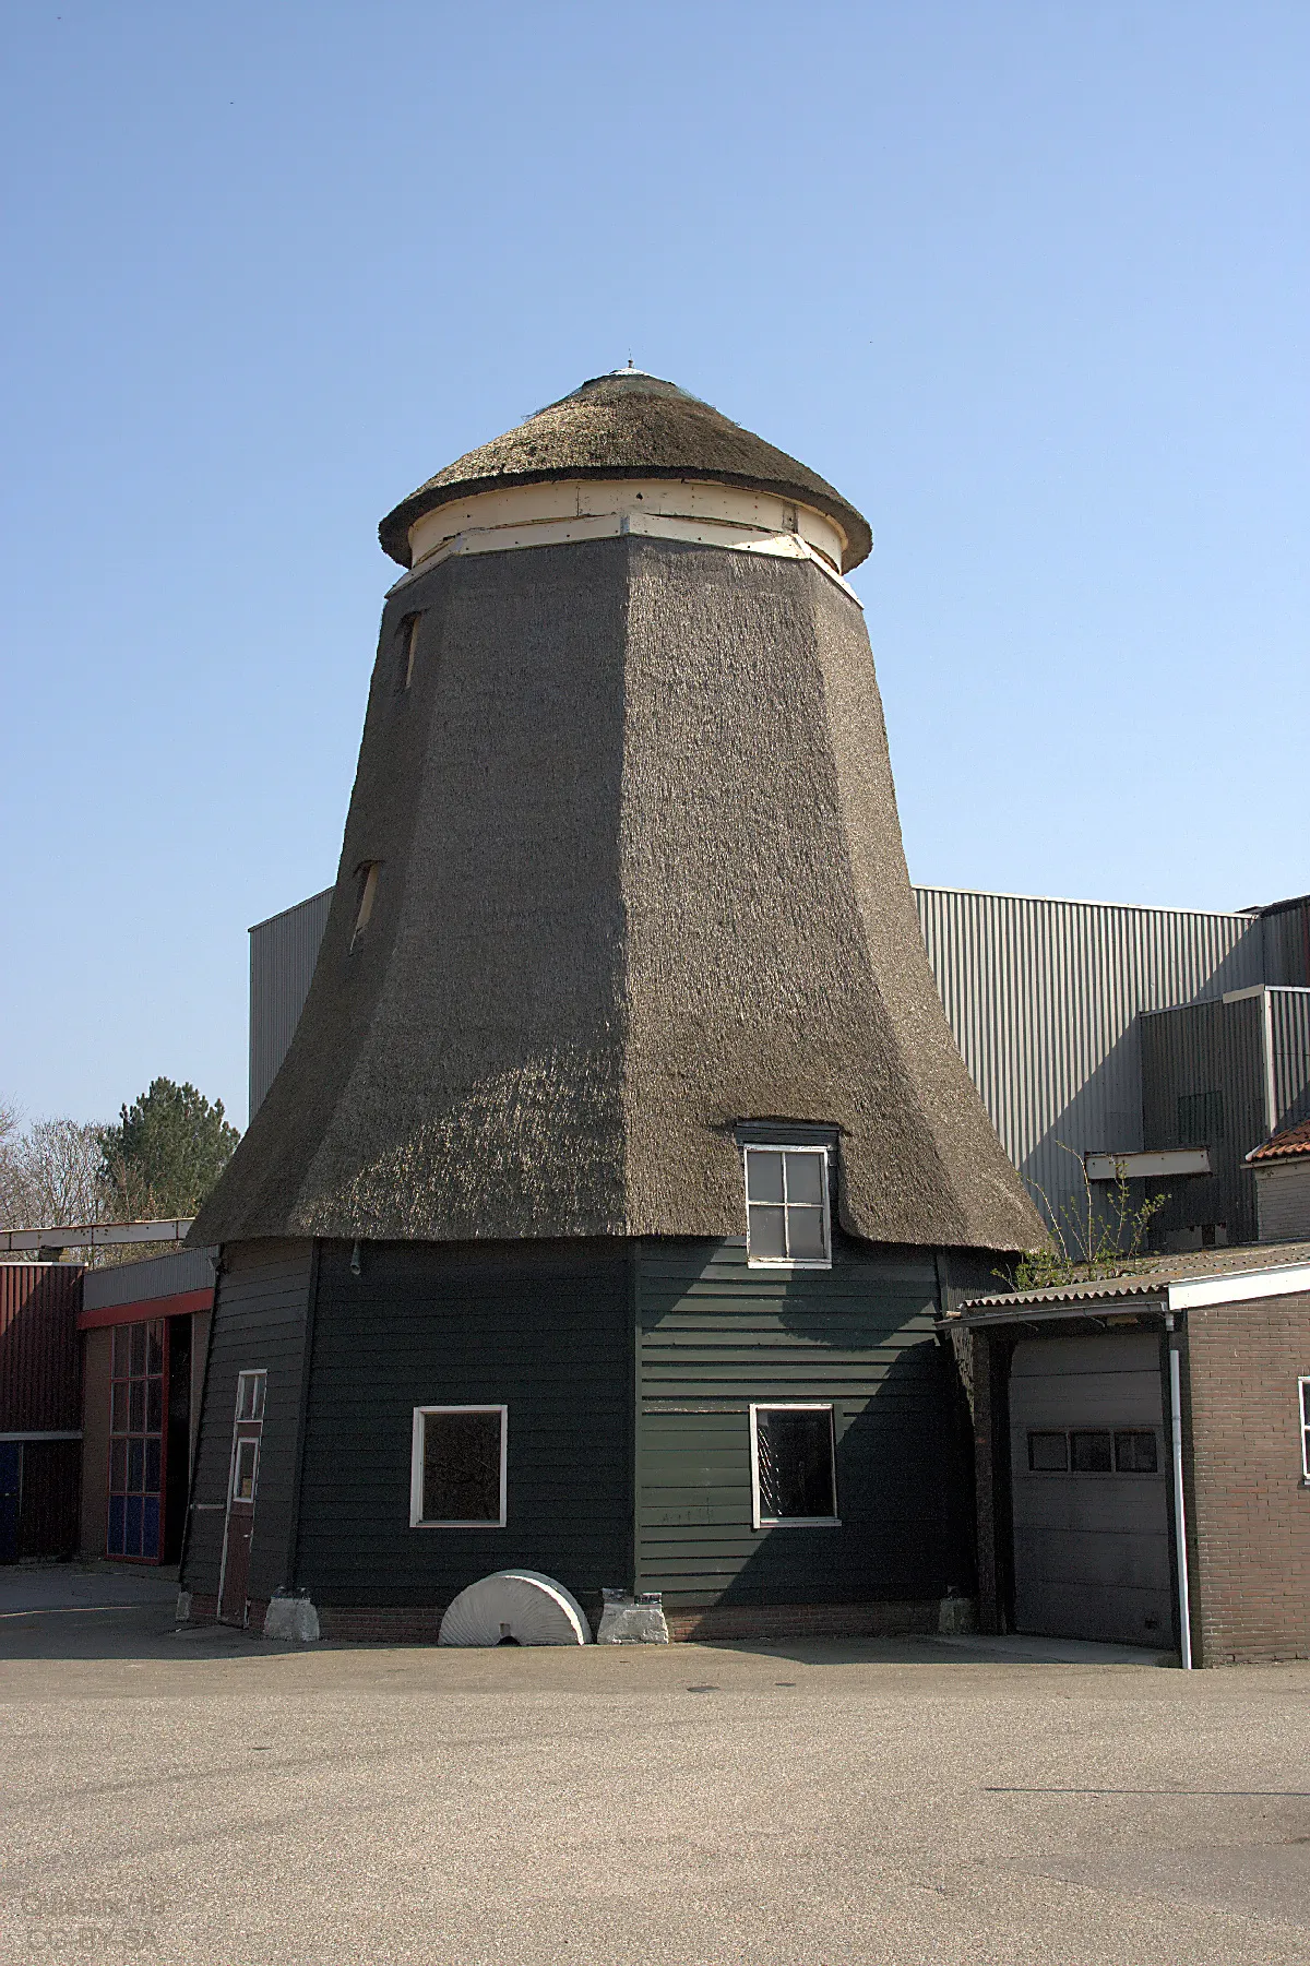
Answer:
M163 1535L167 1321L114 1325L110 1384L110 1557L157 1563Z

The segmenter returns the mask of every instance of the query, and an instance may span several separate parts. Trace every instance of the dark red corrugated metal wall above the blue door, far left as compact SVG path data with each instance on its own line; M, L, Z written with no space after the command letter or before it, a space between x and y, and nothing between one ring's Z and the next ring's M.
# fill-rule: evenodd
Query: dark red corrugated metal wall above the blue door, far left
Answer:
M0 1262L0 1433L83 1423L77 1264Z

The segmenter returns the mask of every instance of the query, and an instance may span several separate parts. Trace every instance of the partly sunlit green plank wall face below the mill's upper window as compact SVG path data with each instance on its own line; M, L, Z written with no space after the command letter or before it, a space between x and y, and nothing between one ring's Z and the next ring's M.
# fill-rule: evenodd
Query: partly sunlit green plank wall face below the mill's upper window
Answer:
M869 1602L966 1587L954 1380L932 1252L838 1239L832 1270L740 1243L637 1252L637 1589L671 1608ZM840 1528L751 1530L751 1402L834 1406Z

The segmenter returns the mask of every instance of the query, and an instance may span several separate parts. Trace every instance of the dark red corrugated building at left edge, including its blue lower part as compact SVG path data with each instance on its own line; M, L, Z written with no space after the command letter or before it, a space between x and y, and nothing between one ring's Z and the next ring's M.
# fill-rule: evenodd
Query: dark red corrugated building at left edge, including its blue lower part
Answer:
M0 1563L77 1545L81 1266L0 1264Z

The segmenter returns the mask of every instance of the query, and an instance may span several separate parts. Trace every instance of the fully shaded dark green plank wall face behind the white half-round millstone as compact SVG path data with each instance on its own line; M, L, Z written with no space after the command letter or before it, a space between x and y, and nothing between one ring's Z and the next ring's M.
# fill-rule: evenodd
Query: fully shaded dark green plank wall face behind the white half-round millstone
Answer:
M624 1243L319 1244L295 1581L317 1604L445 1606L525 1565L596 1612L631 1583ZM507 1526L411 1530L415 1406L509 1408Z

